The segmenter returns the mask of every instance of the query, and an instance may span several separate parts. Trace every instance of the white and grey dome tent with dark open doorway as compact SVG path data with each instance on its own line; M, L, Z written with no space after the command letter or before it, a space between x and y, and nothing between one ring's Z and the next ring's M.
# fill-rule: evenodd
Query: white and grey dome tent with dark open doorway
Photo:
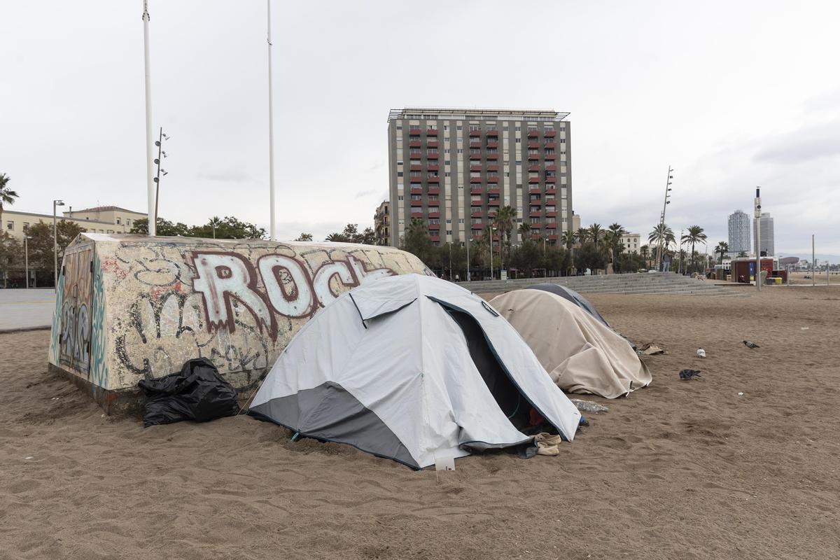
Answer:
M250 413L412 468L528 443L534 418L568 440L580 422L503 317L423 275L376 280L326 306L277 359Z

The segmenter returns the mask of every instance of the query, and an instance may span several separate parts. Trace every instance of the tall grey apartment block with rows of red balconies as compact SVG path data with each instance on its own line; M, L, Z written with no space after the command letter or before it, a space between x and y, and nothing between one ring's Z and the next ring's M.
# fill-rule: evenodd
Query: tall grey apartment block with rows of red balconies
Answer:
M572 223L569 113L406 107L388 116L391 245L412 219L435 244L480 238L500 207L517 211L512 243L558 243ZM499 243L494 236L494 243Z

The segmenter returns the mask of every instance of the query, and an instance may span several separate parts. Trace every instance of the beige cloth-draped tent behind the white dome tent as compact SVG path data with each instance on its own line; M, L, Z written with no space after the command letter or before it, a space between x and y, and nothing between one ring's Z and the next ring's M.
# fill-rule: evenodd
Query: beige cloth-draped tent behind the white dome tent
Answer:
M647 366L627 340L580 306L543 290L509 291L490 303L560 389L614 399L650 384Z

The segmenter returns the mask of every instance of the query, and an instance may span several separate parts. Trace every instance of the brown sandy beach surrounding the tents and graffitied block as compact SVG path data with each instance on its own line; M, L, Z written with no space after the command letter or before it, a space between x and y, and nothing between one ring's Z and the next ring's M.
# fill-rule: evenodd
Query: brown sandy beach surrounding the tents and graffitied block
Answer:
M653 385L559 457L439 474L248 416L144 429L47 374L49 332L0 335L0 558L840 557L840 286L591 301L667 350Z

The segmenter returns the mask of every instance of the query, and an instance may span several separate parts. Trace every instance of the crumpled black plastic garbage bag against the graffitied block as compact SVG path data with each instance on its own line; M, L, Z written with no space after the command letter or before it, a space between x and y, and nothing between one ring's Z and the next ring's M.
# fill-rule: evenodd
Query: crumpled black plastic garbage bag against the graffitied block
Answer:
M236 416L236 390L206 358L191 359L181 371L138 384L146 395L144 427L181 420L204 422Z

